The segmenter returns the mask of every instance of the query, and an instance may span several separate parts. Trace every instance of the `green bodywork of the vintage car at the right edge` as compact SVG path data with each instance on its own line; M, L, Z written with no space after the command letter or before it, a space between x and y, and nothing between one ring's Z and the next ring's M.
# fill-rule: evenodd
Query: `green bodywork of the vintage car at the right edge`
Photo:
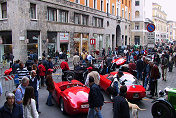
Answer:
M176 89L171 88L168 90L168 101L174 106L176 110Z

